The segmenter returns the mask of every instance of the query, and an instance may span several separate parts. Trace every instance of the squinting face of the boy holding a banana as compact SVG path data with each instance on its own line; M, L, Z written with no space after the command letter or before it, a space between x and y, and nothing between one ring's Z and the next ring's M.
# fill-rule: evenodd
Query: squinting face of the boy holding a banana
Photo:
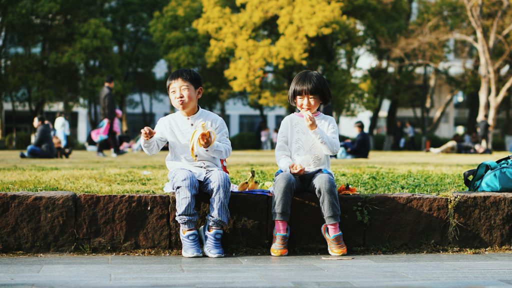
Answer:
M170 84L168 92L174 108L185 116L191 116L197 112L197 101L203 96L203 87L195 89L194 85L187 81L176 79Z

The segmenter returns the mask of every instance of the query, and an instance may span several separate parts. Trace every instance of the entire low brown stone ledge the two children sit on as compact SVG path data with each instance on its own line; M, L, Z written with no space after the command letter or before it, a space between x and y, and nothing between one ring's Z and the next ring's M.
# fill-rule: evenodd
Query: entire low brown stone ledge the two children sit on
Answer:
M456 193L458 239L449 243L449 199L420 194L340 195L341 227L350 248L424 245L487 248L512 244L512 193ZM196 209L204 224L209 198ZM93 252L181 249L173 195L93 195L72 192L0 193L1 252ZM232 194L223 244L267 249L272 239L272 198ZM366 211L366 214L365 214ZM292 201L290 249L324 252L324 223L314 194Z

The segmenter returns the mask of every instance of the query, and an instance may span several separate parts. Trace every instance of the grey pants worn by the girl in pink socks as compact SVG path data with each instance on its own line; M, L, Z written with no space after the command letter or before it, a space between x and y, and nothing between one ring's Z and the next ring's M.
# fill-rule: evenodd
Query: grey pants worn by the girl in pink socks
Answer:
M339 222L339 200L334 177L322 170L312 171L300 177L283 172L274 179L272 219L290 220L291 199L295 192L313 191L320 200L326 224Z

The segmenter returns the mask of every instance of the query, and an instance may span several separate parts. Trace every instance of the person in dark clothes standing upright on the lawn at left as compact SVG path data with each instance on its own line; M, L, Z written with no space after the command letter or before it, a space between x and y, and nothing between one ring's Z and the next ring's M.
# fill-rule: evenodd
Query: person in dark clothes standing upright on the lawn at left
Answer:
M114 118L116 117L116 105L114 102L114 94L112 93L112 89L114 89L114 78L112 76L108 76L105 78L105 83L103 84L103 88L99 93L99 103L100 103L100 119L108 119L109 123L109 132L108 138L98 142L98 152L96 155L100 157L105 157L103 153L103 149L113 148L114 153L112 153L112 157L116 157L117 155L124 154L119 150L119 143L117 141L116 132L114 132Z

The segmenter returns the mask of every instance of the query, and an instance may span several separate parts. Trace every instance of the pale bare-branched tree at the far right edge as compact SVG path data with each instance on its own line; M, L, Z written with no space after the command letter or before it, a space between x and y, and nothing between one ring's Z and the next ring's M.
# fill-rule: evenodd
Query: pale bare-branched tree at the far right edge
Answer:
M488 114L492 129L496 126L498 109L512 85L512 69L508 66L512 30L510 2L461 0L455 4L467 18L450 36L470 43L477 51L480 65L478 120ZM490 136L489 144L492 145Z

